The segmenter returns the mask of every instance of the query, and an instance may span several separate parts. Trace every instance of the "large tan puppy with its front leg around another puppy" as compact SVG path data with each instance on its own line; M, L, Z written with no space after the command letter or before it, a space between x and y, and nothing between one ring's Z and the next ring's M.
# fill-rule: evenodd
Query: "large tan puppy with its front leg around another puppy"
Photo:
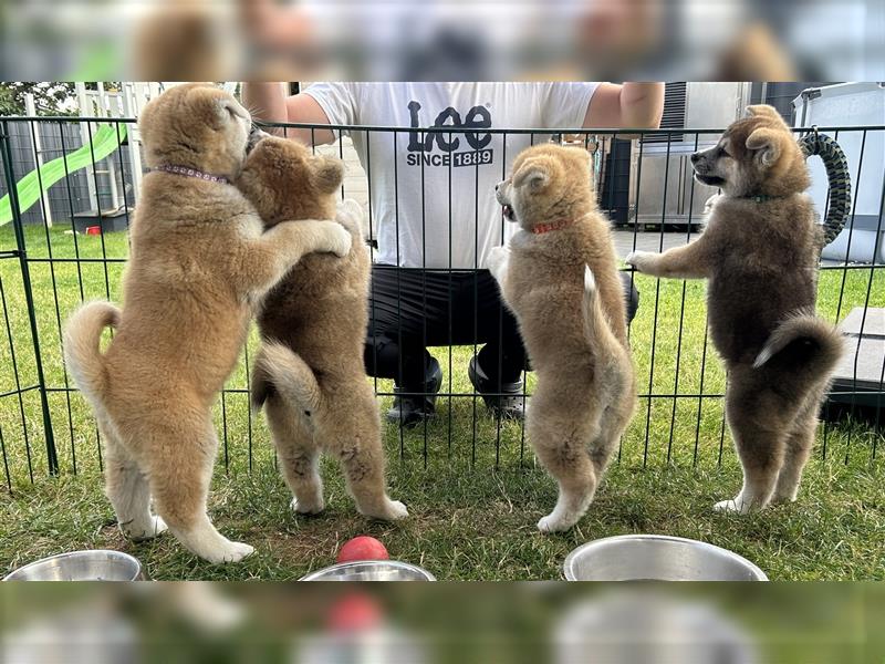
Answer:
M207 85L173 87L145 107L139 128L154 172L129 234L125 307L88 303L64 334L67 369L105 442L106 491L121 529L143 539L168 525L211 562L252 552L206 515L218 447L211 406L246 341L252 305L304 253L351 248L334 221L264 230L227 181L242 167L250 127L232 96ZM171 167L185 174L163 170ZM108 325L115 335L102 353Z

